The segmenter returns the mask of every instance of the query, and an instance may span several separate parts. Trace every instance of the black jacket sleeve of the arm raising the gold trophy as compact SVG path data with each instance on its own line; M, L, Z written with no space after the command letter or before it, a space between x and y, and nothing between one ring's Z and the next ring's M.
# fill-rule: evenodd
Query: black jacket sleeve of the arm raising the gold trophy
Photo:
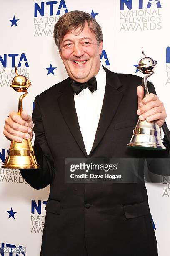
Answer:
M38 96L35 97L35 108L32 114L35 133L34 151L40 169L20 169L20 173L31 187L42 189L52 183L54 177L54 161L45 138Z

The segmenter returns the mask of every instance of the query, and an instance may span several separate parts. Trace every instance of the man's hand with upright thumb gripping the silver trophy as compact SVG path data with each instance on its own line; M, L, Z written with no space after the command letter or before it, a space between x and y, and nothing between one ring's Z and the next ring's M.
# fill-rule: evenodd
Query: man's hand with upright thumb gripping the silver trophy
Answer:
M162 127L167 117L163 102L161 102L157 95L149 93L143 98L143 86L137 87L138 93L138 110L140 120L147 120L148 122L155 121Z

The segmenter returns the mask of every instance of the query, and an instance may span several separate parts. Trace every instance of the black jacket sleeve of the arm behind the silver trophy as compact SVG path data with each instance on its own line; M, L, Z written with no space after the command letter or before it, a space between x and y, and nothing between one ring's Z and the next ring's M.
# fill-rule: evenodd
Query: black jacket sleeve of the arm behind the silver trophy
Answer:
M148 84L148 90L149 93L154 93L155 88L152 83L149 82ZM164 132L164 138L163 138L163 144L166 147L166 150L156 150L153 151L153 157L146 158L148 169L150 172L153 172L154 174L163 175L163 176L169 176L170 175L170 131L168 129L168 126L166 122L163 124L163 132Z

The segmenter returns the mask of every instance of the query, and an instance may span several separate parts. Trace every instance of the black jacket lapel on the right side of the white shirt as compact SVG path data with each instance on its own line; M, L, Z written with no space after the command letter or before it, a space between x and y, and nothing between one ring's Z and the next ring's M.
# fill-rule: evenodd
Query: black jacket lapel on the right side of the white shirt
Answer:
M119 87L122 86L122 83L120 82L117 74L111 72L105 67L103 68L106 71L105 96L103 99L102 110L100 114L99 123L97 126L95 140L90 154L100 143L102 137L107 131L107 128L110 125L110 122L113 119L123 97L123 93L117 90Z

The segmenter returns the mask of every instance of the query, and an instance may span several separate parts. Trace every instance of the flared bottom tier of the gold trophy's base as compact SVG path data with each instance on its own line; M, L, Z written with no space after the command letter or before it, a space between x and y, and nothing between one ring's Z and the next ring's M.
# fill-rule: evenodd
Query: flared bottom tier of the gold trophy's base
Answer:
M1 168L9 169L38 169L35 156L7 156Z

